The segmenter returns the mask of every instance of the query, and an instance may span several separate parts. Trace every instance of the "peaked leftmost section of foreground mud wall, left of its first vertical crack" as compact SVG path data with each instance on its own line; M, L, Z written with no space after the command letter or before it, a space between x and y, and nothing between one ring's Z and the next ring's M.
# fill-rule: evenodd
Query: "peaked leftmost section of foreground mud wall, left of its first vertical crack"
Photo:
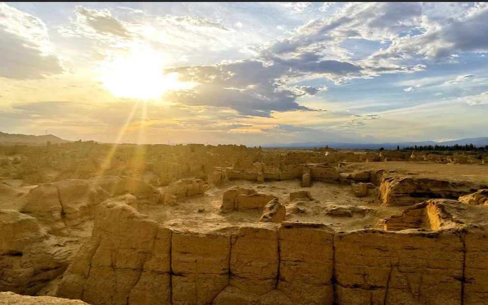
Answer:
M171 304L171 235L121 203L98 206L57 294L90 304Z

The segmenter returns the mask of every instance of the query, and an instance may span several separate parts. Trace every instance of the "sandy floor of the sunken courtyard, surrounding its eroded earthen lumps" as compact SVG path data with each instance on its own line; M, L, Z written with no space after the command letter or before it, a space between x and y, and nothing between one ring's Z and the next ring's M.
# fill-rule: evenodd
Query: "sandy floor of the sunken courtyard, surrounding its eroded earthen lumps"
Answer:
M232 186L254 188L260 193L269 193L285 205L286 221L316 222L333 226L338 231L352 231L374 227L382 217L401 213L404 207L380 206L378 188L370 189L367 197L357 198L351 186L314 182L311 187L301 187L299 180L253 183L233 180L205 192L203 195L186 198L173 205L139 205L139 211L158 223L182 230L214 230L233 225L257 222L261 211L247 210L219 213L223 193ZM290 202L290 193L309 191L314 200ZM335 208L346 208L344 213ZM349 213L350 207L358 207ZM336 212L334 212L336 211Z

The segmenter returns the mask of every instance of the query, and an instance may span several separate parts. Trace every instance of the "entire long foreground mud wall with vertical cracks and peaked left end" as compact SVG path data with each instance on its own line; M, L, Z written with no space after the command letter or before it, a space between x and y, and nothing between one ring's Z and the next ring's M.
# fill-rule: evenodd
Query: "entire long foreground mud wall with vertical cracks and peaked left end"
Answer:
M100 206L58 295L93 305L483 304L488 231L358 230L250 223L163 228L124 204Z

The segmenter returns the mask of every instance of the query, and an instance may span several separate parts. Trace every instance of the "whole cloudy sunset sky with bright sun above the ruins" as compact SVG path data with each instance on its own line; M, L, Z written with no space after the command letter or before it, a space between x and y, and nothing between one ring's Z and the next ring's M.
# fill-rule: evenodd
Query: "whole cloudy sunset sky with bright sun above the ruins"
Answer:
M487 2L0 2L2 132L257 146L487 127Z

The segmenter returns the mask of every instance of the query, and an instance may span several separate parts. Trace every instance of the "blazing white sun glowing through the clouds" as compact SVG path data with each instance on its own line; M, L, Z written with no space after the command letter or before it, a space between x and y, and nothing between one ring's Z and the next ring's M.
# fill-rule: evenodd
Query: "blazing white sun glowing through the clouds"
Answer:
M98 71L97 80L119 97L153 99L183 85L177 81L177 73L163 74L160 55L151 50L112 55Z

